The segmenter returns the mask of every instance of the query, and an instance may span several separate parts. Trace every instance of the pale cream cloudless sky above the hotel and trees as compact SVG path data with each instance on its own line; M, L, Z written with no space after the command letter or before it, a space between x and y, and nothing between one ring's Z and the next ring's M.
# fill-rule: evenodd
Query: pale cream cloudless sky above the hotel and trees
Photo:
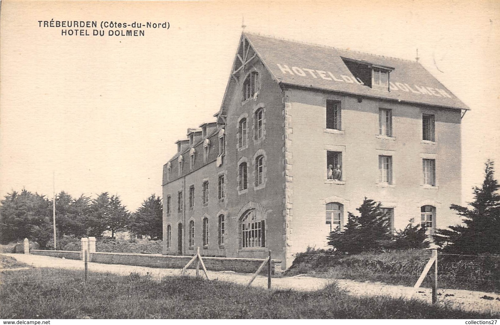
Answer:
M418 48L419 62L470 107L461 203L482 182L486 159L497 161L500 178L499 1L4 0L0 15L1 197L22 188L48 197L53 187L73 196L107 191L135 210L161 195L174 142L214 120L242 23L250 32L404 59ZM169 28L61 35L74 28L39 26L50 19Z

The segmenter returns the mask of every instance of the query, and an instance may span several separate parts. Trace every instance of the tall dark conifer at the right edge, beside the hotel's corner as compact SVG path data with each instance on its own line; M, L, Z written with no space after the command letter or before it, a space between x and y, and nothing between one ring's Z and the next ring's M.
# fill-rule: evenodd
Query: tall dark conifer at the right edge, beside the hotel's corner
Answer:
M500 185L493 178L493 161L486 161L484 172L482 186L474 187L474 201L469 203L472 208L450 206L463 217L464 224L437 229L434 235L438 244L445 244L445 252L471 255L500 252Z

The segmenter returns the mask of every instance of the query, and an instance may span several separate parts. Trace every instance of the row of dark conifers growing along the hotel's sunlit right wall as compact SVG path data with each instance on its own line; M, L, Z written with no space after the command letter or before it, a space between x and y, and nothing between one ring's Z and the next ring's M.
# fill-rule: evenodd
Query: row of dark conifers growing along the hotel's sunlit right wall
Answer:
M436 229L429 236L425 226L413 219L395 234L389 229L388 217L382 212L380 203L364 198L356 208L359 215L348 212L348 222L343 229L337 228L328 235L328 245L335 254L357 254L364 251L386 249L421 248L429 243L442 247L452 254L498 254L500 253L500 185L494 179L493 162L487 161L484 181L473 188L473 201L469 206L451 204L462 217L462 224L447 229Z

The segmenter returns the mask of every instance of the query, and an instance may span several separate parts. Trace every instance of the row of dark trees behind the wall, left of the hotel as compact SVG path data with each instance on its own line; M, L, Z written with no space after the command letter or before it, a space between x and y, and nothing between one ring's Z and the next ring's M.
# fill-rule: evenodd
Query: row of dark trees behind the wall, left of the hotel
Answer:
M26 189L12 191L0 202L0 241L28 238L40 247L53 245L53 201ZM106 230L128 230L134 235L162 238L162 203L155 194L134 212L127 210L118 195L102 192L95 198L72 197L61 191L55 198L56 237L100 236Z

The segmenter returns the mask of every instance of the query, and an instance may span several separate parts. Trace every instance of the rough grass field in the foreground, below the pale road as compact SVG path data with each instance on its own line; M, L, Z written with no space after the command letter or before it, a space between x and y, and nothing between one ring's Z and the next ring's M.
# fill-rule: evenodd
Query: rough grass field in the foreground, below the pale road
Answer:
M1 318L488 318L418 300L353 297L336 285L267 291L216 280L33 268L1 272Z

